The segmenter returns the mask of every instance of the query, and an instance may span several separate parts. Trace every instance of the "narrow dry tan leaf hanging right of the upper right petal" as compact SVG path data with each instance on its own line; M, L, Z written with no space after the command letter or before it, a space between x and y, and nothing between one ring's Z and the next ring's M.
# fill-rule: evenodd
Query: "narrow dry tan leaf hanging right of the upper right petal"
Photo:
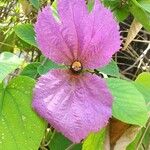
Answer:
M124 47L122 50L126 50L128 45L132 42L132 40L136 37L139 31L142 28L142 24L138 22L136 19L133 20L130 29L128 31L127 39L125 41Z

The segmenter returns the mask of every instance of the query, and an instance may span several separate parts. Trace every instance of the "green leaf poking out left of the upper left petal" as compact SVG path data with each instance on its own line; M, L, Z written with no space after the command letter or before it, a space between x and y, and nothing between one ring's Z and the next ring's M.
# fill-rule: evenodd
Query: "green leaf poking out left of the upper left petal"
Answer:
M16 35L21 38L26 43L37 47L37 43L35 41L35 32L33 26L31 24L21 24L17 25L14 29Z

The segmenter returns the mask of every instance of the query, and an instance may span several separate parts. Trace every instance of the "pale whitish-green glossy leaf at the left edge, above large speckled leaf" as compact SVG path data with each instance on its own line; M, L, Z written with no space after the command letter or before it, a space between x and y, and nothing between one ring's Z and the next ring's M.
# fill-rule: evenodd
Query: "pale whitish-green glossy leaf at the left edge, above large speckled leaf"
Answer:
M15 69L17 69L21 63L22 59L14 55L13 53L3 52L0 54L0 83L2 80Z

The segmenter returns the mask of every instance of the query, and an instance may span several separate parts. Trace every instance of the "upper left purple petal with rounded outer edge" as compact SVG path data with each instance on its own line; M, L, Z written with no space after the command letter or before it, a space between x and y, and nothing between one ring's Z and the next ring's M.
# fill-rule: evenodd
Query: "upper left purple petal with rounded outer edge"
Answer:
M71 64L72 54L62 37L60 26L54 19L50 6L46 6L37 17L36 41L41 52L49 59L60 64Z

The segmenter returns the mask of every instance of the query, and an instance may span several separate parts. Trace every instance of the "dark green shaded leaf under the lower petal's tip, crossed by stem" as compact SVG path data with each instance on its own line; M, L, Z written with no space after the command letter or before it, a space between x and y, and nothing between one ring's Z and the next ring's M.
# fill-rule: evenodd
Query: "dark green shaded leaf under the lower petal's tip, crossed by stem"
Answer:
M70 145L72 145L72 142L70 140L64 137L61 133L56 132L49 144L49 148L51 150L66 150ZM71 150L81 150L81 149L82 149L81 144L73 145L71 148Z

